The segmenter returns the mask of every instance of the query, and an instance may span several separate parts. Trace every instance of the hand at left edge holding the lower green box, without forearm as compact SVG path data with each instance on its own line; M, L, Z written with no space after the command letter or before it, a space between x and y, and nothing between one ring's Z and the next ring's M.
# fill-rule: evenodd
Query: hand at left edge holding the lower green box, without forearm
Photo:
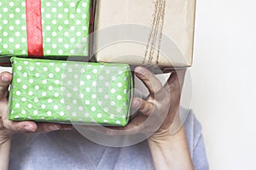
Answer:
M0 74L0 142L10 139L13 133L39 133L50 132L61 129L71 129L70 125L56 123L36 123L31 121L13 122L9 121L9 83L12 75L9 72Z

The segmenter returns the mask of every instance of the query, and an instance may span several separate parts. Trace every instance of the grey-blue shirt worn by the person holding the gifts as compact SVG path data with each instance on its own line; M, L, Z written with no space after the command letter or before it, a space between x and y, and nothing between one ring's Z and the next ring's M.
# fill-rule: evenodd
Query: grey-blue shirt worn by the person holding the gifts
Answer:
M188 111L181 109L181 112ZM183 124L195 170L207 170L201 124L192 111ZM77 131L15 134L9 162L11 170L85 169L150 170L153 159L147 140L122 148L106 147L85 139Z

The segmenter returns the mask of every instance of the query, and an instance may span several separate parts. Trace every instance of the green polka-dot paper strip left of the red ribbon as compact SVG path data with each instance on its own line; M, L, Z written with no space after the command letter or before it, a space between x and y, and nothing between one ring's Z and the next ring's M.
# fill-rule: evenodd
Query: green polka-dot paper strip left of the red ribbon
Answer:
M27 54L26 8L23 1L0 2L0 55Z

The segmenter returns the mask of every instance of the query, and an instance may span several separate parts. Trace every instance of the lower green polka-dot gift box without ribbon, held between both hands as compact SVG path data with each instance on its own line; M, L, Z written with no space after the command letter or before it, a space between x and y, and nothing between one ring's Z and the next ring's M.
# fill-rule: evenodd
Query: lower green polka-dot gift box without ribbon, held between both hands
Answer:
M11 58L9 119L125 126L131 107L129 65Z

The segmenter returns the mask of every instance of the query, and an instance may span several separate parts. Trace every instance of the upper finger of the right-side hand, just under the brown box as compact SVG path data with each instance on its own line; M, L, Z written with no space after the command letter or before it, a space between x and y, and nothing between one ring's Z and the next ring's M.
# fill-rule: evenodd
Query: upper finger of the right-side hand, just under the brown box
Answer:
M163 88L158 78L154 77L154 75L144 67L138 66L134 71L137 77L141 79L148 88L150 94L156 94Z

